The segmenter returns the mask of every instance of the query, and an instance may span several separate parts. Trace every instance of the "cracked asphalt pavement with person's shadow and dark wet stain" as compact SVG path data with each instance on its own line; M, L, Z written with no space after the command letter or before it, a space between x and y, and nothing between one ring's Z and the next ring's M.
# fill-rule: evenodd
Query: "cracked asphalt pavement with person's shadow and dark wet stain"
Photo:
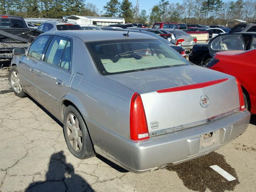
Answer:
M0 90L8 90L0 71ZM0 192L253 192L256 116L230 144L165 170L134 174L102 156L80 160L66 146L62 124L32 98L0 94ZM237 178L228 182L209 166Z

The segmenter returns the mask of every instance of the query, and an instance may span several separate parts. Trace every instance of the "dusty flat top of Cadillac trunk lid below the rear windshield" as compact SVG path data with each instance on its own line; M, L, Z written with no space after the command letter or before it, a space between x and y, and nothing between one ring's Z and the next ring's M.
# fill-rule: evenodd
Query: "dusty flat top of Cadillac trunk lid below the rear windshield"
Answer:
M230 77L227 74L196 65L177 66L105 76L127 88L144 94L189 84Z

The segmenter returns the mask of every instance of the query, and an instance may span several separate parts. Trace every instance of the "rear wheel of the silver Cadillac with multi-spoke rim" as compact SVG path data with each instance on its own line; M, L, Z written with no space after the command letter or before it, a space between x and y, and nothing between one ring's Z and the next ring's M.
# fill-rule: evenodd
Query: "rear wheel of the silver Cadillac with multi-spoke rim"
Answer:
M79 159L95 156L89 132L78 110L70 105L64 112L64 136L68 150Z

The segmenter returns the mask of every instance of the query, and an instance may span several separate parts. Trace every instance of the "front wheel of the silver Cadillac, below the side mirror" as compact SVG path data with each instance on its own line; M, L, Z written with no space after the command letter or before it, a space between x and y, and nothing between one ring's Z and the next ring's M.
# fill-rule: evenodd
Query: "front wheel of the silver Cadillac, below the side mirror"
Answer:
M9 84L16 96L26 97L26 93L24 92L22 85L20 84L19 71L18 71L18 67L16 65L14 65L10 68Z

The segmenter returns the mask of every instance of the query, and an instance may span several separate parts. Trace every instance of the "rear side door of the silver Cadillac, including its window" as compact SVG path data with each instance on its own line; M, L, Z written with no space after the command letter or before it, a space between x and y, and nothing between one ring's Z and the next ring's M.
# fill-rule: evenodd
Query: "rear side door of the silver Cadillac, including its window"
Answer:
M40 103L60 116L60 99L67 93L71 78L72 40L52 36L36 71L36 90Z

